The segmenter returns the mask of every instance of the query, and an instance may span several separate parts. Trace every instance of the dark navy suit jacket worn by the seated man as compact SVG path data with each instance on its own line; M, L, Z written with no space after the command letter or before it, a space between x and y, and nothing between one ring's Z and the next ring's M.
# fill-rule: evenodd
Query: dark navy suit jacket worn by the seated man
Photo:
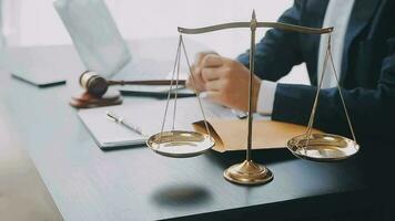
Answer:
M321 28L327 0L295 0L280 22ZM277 81L306 63L313 86L278 84L272 118L306 125L316 93L320 35L270 30L256 44L255 74ZM249 54L239 56L249 66ZM341 85L356 138L395 135L395 1L355 0L345 35ZM350 136L336 88L320 95L314 127Z

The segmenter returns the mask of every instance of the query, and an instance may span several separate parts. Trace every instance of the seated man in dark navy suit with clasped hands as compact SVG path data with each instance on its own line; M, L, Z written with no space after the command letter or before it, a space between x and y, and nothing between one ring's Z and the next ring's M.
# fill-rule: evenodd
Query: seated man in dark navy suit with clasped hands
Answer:
M388 137L395 124L395 1L295 0L278 22L334 27L335 67L358 143ZM306 125L327 39L272 29L256 44L253 109L274 120ZM312 86L276 83L294 65L306 63ZM249 53L236 61L201 53L193 67L196 87L222 105L247 109ZM351 136L336 80L326 70L314 127ZM188 85L192 86L191 77Z

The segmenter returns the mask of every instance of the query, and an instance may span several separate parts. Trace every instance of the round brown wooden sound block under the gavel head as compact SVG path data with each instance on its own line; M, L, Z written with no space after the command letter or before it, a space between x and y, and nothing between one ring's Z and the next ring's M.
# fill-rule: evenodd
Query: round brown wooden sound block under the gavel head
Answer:
M122 97L121 93L114 90L109 90L102 98L94 97L84 92L78 96L72 96L69 104L75 108L112 106L122 104Z

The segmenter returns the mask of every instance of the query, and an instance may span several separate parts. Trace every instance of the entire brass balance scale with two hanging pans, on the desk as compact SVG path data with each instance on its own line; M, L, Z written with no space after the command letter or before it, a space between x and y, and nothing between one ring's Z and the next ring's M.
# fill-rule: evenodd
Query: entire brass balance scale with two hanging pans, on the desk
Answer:
M314 29L307 27L300 27L280 22L257 22L255 17L255 11L252 13L252 19L250 22L232 22L223 23L217 25L211 25L199 29L185 29L179 28L180 40L175 55L175 62L172 72L172 80L170 82L170 91L168 95L168 102L164 110L163 122L161 131L151 136L146 144L148 147L153 151L174 158L194 157L205 152L215 145L214 138L210 134L209 123L206 120L202 102L199 97L199 93L195 91L196 99L199 103L200 110L202 112L202 117L204 119L204 126L206 134L198 131L186 131L176 130L174 128L174 118L176 116L176 101L178 101L178 88L179 88L179 72L180 72L180 59L183 53L188 63L189 74L192 76L192 85L194 86L195 80L192 75L191 63L188 59L188 53L185 50L184 41L182 34L201 34L207 32L214 32L225 29L237 29L237 28L249 28L251 30L251 49L250 49L250 72L254 73L255 63L255 31L256 28L274 28L286 31L295 31L305 34L330 34L325 60L323 64L323 72L320 78L318 88L315 95L314 104L312 107L310 120L307 124L307 129L303 135L293 137L287 143L288 150L298 158L313 160L313 161L337 161L346 159L355 155L359 150L359 145L356 143L355 134L350 120L350 116L344 103L342 90L338 85L338 76L333 63L332 52L331 52L331 33L333 28ZM322 87L323 78L325 75L325 67L330 61L331 66L334 71L334 75L337 83L337 90L340 92L340 97L343 104L343 108L347 118L348 127L353 139L333 134L313 134L312 128L314 124L315 112L318 104L318 95ZM175 88L175 90L174 90ZM195 86L194 86L195 88ZM265 166L259 165L252 160L252 74L250 75L250 86L249 86L249 113L247 113L247 143L246 143L246 159L241 162L231 166L224 171L224 177L226 180L240 185L262 185L273 180L273 173ZM165 119L169 109L169 103L171 99L171 94L174 94L174 109L173 109L173 123L171 130L164 130Z

